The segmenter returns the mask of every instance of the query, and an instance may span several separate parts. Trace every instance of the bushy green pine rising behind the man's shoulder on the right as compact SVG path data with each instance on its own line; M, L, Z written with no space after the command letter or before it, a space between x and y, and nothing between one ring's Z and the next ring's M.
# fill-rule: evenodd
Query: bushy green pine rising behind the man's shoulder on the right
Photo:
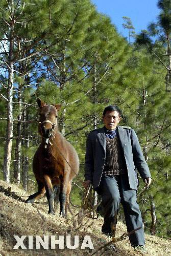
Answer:
M146 222L145 230L150 230L151 234L158 236L168 236L169 229L167 230L166 227L170 220L168 217L170 202L168 202L167 193L170 190L168 177L171 159L168 149L167 153L164 150L165 141L170 143L167 135L170 115L166 115L166 113L170 113L170 106L168 94L164 90L165 70L156 59L151 57L151 54L137 45L133 49L128 65L132 74L125 72L125 80L126 83L132 80L134 87L131 96L130 88L124 95L124 117L126 124L132 126L139 137L143 155L148 162L153 178L150 190L144 191L144 194L141 194L144 184L140 182L139 193L141 196L138 196L138 200L141 205L143 221ZM131 84L128 83L128 86L130 87ZM167 173L167 181L165 173ZM165 197L162 196L164 193ZM161 197L163 197L162 201ZM164 209L167 219L162 217L164 212L161 211L161 208Z

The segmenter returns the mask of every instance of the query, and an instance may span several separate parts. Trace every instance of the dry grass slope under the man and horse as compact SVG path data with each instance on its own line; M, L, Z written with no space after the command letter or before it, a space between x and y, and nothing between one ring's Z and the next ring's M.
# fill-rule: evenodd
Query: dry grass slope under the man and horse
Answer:
M18 196L26 196L26 192L19 189L17 186L7 184L0 181L0 185L5 188L11 187L11 191L15 191ZM110 239L101 233L101 226L103 223L102 218L98 220L84 219L88 223L86 226L78 229L78 218L73 222L72 216L69 215L68 219L63 219L56 213L55 216L47 214L47 205L31 205L19 202L13 198L7 197L4 193L0 193L0 255L91 255L96 249L101 247L104 242L109 242ZM58 211L57 211L58 212ZM86 228L85 228L86 227ZM126 226L122 223L117 224L116 237L121 236L126 232ZM80 242L85 235L89 235L94 246L94 250L89 248L80 249L81 244L77 249L13 249L16 241L14 235L19 237L22 235L43 236L43 235L58 235L70 234L72 238L75 235L79 236ZM153 256L171 256L171 241L170 239L161 239L154 236L146 235L146 248L148 253L145 255ZM26 240L26 246L27 246ZM34 246L33 246L34 248ZM117 242L115 249L107 247L104 251L99 251L95 255L119 255L119 256L133 256L142 255L137 253L131 247L129 239Z

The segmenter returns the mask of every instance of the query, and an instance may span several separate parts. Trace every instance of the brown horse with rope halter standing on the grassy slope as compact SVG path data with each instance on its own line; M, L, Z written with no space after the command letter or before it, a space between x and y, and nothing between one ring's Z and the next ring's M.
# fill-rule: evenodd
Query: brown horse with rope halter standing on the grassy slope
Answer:
M65 217L69 206L72 179L79 172L79 158L75 148L58 130L58 110L61 105L46 105L37 99L39 105L39 133L41 144L33 158L33 172L38 192L31 195L27 203L34 203L46 193L49 214L54 212L54 187L59 189L60 214Z

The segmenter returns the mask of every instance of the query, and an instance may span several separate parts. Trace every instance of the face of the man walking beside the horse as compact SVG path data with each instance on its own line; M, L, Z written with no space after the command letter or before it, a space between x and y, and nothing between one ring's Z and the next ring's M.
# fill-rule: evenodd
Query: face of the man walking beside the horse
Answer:
M103 122L107 130L112 131L116 128L120 121L119 113L117 111L107 111L103 116Z

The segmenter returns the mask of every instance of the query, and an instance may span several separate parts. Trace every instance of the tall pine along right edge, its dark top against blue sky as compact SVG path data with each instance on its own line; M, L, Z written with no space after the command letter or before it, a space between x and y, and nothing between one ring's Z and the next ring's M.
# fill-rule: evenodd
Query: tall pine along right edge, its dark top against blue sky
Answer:
M156 125L153 125L154 131L151 131L151 127L148 127L148 133L151 134L151 138L148 140L148 143L152 143L151 150L148 155L150 160L151 168L154 170L155 181L154 186L149 193L149 199L151 201L151 207L154 208L154 202L156 204L156 217L157 224L150 226L151 232L162 236L170 236L170 229L168 223L170 222L169 215L169 193L170 193L170 104L169 104L169 93L170 92L170 5L171 1L158 1L158 7L161 12L158 15L158 22L152 23L149 26L149 33L143 32L138 36L137 42L140 44L145 43L149 52L151 53L151 58L154 63L156 63L156 68L154 72L158 72L159 65L163 68L165 73L165 88L161 86L162 81L158 79L158 84L162 88L156 91L156 96L160 95L160 99L154 101L154 110L155 115L151 116L151 120L155 120ZM150 36L156 36L156 41L153 44ZM143 40L144 39L144 40ZM157 61L157 62L156 62ZM164 82L164 79L163 79ZM164 91L166 93L164 94ZM157 114L158 110L158 114ZM152 111L150 112L150 114ZM149 147L149 146L148 146ZM152 159L154 159L152 161ZM156 170L156 172L155 172ZM162 200L161 200L162 198ZM144 213L148 210L144 211ZM153 217L155 217L153 215Z

